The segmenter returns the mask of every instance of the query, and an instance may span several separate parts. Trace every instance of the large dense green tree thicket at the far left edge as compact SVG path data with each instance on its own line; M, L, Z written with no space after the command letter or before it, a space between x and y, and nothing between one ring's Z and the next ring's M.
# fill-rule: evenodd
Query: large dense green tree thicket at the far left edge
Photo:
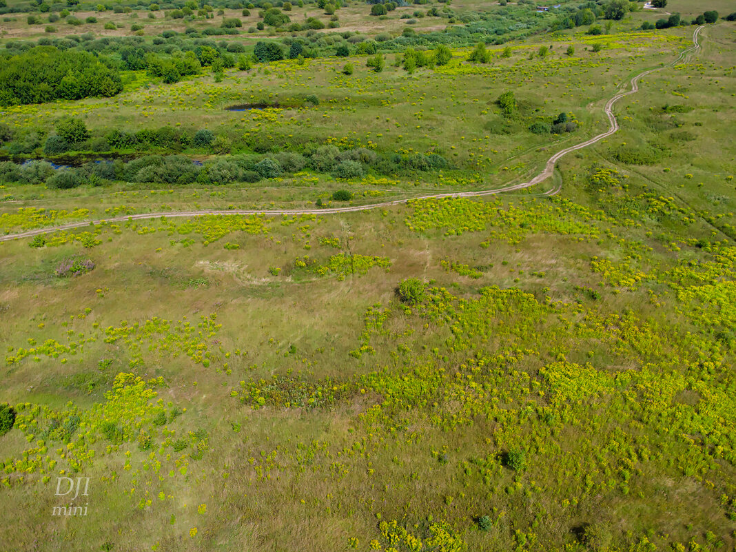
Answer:
M86 52L40 46L0 66L0 105L115 96L122 89L118 72Z

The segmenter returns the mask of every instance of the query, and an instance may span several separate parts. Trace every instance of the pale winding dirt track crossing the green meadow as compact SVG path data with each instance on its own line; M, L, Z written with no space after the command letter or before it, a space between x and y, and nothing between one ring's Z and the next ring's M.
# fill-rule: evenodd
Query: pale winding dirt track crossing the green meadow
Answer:
M448 192L446 194L432 194L429 196L410 197L408 199L396 199L394 201L388 201L388 202L382 202L382 203L372 203L370 205L355 205L353 207L336 207L336 208L324 208L324 209L280 209L280 210L248 210L248 209L187 210L187 211L175 211L171 213L138 213L134 215L116 216L110 219L100 219L96 221L88 220L88 221L82 221L82 222L73 222L70 224L62 224L60 226L36 228L35 230L26 230L25 232L19 232L15 234L7 234L5 236L0 236L0 241L9 241L9 240L17 239L17 238L31 238L32 236L38 236L40 234L57 232L59 230L73 230L74 228L81 228L81 227L89 226L91 223L92 224L102 224L103 222L125 222L127 220L158 219L161 216L171 218L171 217L189 217L189 216L198 216L198 215L278 216L278 215L311 215L311 214L321 215L325 213L352 213L354 211L377 209L377 208L382 208L382 207L389 207L391 205L400 205L402 203L406 203L414 199L436 199L436 198L442 198L442 197L480 197L480 196L503 194L509 191L530 188L531 186L542 183L544 180L547 180L549 177L551 177L557 161L563 156L567 155L570 152L574 152L577 149L583 149L587 146L591 146L592 144L595 144L596 142L601 141L604 138L607 138L610 135L617 132L619 126L618 126L618 120L616 119L616 116L613 114L613 105L616 102L618 102L619 99L623 98L624 96L629 96L630 94L633 94L639 91L639 79L641 79L642 77L645 77L648 74L654 73L654 71L660 71L664 68L672 67L676 65L677 63L679 63L680 61L684 60L688 54L700 49L700 43L698 43L698 38L700 36L700 32L702 29L704 29L704 26L698 26L695 32L693 32L693 46L690 46L690 48L684 50L681 54L679 54L678 57L676 57L675 60L668 63L668 65L666 66L649 69L648 71L643 71L642 73L637 74L630 81L631 90L626 91L625 89L622 89L621 91L616 93L615 96L609 99L608 102L606 102L606 105L604 107L604 112L608 116L609 123L611 124L611 127L609 128L609 130L599 135L593 136L592 138L590 138L590 140L581 142L580 144L576 144L575 146L570 146L568 148L562 149L561 151L557 152L555 155L553 155L551 158L547 160L544 170L542 170L542 172L537 174L536 177L532 178L528 182L506 186L505 188L495 188L492 190ZM561 185L558 186L557 188L553 188L551 190L545 191L542 195L543 196L553 196L559 193L560 189L561 189Z

